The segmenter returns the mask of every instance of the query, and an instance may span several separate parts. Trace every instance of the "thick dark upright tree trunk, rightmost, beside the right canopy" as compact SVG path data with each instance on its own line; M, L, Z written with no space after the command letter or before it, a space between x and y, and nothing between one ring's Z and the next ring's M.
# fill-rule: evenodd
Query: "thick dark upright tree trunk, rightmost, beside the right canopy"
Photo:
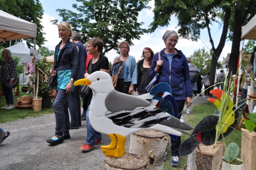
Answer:
M240 0L236 1L235 7L235 15L234 15L234 24L233 24L233 41L232 41L232 49L229 59L229 73L228 79L230 79L231 72L232 74L236 74L237 71L237 63L239 59L239 48L241 41L241 26L243 24L242 14L243 14L243 3Z

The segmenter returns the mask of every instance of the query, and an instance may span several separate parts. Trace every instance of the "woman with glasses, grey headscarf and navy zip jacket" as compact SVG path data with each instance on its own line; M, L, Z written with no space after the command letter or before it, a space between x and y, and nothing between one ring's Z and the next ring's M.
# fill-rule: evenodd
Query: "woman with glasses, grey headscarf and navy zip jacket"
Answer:
M163 41L166 45L160 51L161 60L158 60L158 53L154 55L149 76L151 79L159 73L158 81L166 82L172 90L172 96L175 98L178 105L178 119L180 119L184 104L189 104L192 100L191 80L189 76L189 65L182 51L177 50L175 45L178 42L178 34L175 31L167 30L163 34ZM188 107L188 106L187 106ZM171 139L172 150L172 166L178 166L180 136L177 140Z

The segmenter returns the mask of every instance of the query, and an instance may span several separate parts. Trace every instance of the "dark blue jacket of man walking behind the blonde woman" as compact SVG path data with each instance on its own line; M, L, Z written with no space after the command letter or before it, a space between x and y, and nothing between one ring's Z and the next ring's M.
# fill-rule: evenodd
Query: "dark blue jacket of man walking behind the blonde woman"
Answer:
M75 43L79 49L78 51L78 70L75 80L84 79L85 74L85 62L87 59L87 51L84 48L84 45L79 41Z

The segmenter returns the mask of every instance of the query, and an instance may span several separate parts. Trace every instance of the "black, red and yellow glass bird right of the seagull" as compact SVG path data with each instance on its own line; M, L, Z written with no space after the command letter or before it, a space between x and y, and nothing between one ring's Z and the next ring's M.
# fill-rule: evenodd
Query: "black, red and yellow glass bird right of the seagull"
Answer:
M198 146L198 144L202 143L208 146L214 144L216 138L216 126L220 119L223 119L221 125L221 133L223 133L224 137L228 136L234 130L234 128L236 128L239 113L236 110L236 108L233 107L233 102L230 96L224 93L224 97L227 98L227 100L222 99L222 90L219 89L211 90L210 94L215 95L218 100L212 98L209 98L208 100L211 101L220 111L221 101L227 102L225 104L227 108L223 108L225 109L224 118L221 118L220 116L211 115L206 116L204 119L198 122L193 132L191 133L191 136L180 145L181 156L189 155L190 153L192 153L195 147ZM220 135L218 137L218 141L221 139L222 136Z

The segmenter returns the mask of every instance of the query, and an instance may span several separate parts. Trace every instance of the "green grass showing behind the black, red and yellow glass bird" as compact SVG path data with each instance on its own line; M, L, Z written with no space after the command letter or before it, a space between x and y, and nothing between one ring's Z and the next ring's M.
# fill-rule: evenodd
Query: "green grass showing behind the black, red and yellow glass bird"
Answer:
M192 111L193 111L192 114L187 116L187 119L185 121L192 127L195 127L201 119L203 119L206 116L212 115L216 109L217 108L215 107L215 105L213 105L211 102L197 105L192 108ZM242 115L242 112L239 111L239 118L241 118L241 115ZM240 119L239 119L239 122L240 122ZM241 127L245 128L243 124ZM189 130L189 131L192 132L193 130ZM239 131L241 132L241 130ZM189 138L189 135L182 134L181 143L187 138ZM168 136L168 139L169 139L169 146L167 149L168 155L167 155L167 161L164 162L163 164L163 170L183 170L184 169L183 166L186 163L186 156L179 156L180 165L178 167L171 166L172 153L171 153L171 146L170 146L171 139L169 136ZM223 142L223 140L221 140L221 142ZM225 143L227 145L230 144L231 142L235 142L236 144L238 144L241 152L241 134L234 130L232 133L230 133L229 136L225 137ZM237 158L239 159L240 159L240 152L239 152L239 155L237 156Z

